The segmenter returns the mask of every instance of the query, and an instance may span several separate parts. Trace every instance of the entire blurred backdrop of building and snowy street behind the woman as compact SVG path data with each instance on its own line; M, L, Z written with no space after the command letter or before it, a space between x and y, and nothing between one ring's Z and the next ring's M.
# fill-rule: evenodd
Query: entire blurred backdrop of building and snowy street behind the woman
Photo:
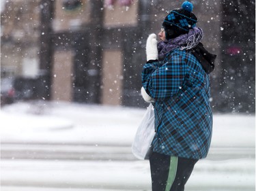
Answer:
M191 1L213 135L188 191L255 190L255 1ZM183 1L1 0L1 190L150 191L131 145L145 43Z

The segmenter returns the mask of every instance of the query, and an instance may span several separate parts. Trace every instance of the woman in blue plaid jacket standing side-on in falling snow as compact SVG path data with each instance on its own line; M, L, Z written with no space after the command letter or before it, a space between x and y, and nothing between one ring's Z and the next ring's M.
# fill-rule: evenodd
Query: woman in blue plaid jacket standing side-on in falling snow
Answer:
M212 137L210 77L216 55L200 43L193 4L172 10L147 39L141 94L155 109L156 136L150 169L152 190L182 191L195 163L208 154Z

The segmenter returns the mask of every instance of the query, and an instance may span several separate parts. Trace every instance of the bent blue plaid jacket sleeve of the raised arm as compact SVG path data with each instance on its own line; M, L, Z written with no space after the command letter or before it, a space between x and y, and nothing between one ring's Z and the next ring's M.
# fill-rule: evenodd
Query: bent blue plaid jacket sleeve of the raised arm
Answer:
M147 63L142 70L142 84L153 99L165 100L182 89L186 76L186 62L180 54L174 53L163 65L159 61Z

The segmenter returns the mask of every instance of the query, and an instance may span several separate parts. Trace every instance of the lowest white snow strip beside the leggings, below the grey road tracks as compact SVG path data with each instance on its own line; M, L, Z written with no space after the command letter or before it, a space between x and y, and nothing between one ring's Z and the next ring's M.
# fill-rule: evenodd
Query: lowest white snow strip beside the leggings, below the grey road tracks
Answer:
M4 186L1 191L14 186L150 191L151 186L149 162L143 160L3 160L1 163L1 185ZM255 191L253 167L254 160L201 160L195 165L186 188L190 191Z

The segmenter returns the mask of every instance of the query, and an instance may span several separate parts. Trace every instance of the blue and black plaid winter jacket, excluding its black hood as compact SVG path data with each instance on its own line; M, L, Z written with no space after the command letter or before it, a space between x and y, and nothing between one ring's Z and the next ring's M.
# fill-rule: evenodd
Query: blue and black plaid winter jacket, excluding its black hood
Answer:
M205 158L212 137L210 79L197 58L177 48L144 65L142 84L156 100L154 152Z

